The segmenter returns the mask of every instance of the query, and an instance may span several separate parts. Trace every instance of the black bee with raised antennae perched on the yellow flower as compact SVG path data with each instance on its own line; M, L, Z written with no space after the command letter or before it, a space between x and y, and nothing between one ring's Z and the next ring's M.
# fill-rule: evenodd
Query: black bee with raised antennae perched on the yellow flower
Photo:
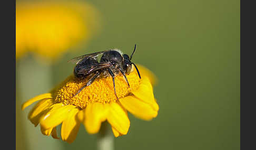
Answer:
M134 65L139 78L141 79L140 72L136 65L131 62L132 56L136 50L136 44L132 55L122 54L119 49L110 49L105 51L99 51L90 53L87 55L75 57L68 62L76 62L74 67L74 76L79 79L88 78L87 83L77 91L75 95L80 93L85 87L91 85L96 78L99 78L101 75L103 77L111 76L113 80L113 87L115 96L118 100L115 91L115 76L120 72L123 74L128 86L130 87L129 81L127 80L125 74L130 74L132 65ZM100 62L97 61L97 58L102 55ZM74 95L74 96L75 96Z

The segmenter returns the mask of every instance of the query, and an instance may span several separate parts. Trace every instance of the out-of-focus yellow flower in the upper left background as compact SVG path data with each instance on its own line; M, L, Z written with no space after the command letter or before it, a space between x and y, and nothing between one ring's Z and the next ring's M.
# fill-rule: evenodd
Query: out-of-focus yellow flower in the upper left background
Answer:
M99 29L99 13L87 3L17 2L16 58L33 51L55 59Z

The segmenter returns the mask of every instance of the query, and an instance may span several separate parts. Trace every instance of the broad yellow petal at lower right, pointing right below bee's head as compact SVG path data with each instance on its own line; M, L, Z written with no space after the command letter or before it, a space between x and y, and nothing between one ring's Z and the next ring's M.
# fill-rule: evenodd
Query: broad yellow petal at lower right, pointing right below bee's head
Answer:
M119 101L127 111L140 119L151 120L153 117L157 116L157 111L155 111L150 104L145 103L136 97L128 96L119 99Z

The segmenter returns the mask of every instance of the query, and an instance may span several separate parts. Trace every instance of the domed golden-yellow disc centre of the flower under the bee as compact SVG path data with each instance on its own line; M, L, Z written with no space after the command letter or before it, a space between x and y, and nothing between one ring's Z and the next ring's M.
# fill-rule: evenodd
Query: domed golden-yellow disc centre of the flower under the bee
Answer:
M115 90L119 99L126 97L131 91L139 88L140 78L136 71L126 74L126 77L130 87L121 73L115 76ZM54 90L55 103L72 104L77 108L84 109L88 102L110 103L117 100L111 76L96 78L91 85L76 94L87 81L88 79L78 79L74 76L68 77L59 88Z

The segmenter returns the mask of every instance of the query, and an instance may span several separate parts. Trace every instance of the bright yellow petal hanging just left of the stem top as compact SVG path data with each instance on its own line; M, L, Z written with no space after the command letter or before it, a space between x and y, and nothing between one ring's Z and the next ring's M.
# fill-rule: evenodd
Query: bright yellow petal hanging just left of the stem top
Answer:
M85 109L84 125L90 134L99 132L101 123L106 120L107 109L99 102L89 103Z

